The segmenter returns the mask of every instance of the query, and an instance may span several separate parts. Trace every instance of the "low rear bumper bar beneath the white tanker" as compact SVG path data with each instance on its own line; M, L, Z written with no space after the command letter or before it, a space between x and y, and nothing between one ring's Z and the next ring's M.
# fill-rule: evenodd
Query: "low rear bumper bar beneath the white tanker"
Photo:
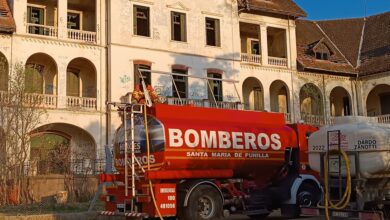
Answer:
M325 216L324 208L301 208L301 216L318 217ZM337 219L353 220L385 220L381 211L356 211L329 209L329 216Z

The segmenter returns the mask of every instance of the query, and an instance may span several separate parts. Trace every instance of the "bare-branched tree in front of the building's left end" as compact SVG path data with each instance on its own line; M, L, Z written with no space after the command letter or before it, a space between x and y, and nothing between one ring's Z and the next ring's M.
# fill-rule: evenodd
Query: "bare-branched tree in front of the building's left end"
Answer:
M36 70L15 65L8 77L8 90L0 96L0 205L34 200L26 166L30 155L29 134L46 114L44 96L28 93L35 85L27 79L34 75Z

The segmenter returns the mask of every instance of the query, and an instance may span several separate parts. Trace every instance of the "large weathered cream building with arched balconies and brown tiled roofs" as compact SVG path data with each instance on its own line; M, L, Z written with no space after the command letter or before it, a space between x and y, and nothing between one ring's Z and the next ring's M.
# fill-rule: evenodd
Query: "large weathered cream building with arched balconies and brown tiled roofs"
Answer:
M48 117L32 134L63 136L93 158L121 123L106 101L121 101L140 77L168 104L280 112L317 125L342 115L389 122L390 13L313 22L291 0L0 2L0 94L16 64L34 69L29 83Z

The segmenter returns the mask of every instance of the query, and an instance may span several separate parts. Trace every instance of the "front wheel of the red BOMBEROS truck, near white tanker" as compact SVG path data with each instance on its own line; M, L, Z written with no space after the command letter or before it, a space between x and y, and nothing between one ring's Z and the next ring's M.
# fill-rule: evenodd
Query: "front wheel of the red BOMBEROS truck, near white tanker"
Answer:
M321 200L321 189L314 183L303 182L297 192L295 205L282 206L282 215L288 218L296 218L301 214L301 207L316 207Z

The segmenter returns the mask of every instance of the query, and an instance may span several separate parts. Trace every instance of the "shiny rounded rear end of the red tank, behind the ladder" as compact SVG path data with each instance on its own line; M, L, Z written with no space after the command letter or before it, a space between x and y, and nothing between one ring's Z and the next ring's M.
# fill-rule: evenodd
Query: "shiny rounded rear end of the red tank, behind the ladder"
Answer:
M147 152L146 135L144 118L141 115L136 115L134 118L134 142L135 142L135 153L145 154ZM131 120L127 119L126 123L127 130L127 146L128 152L131 152ZM165 138L164 138L164 127L160 121L153 116L148 115L148 131L149 131L149 144L150 152L164 151ZM116 154L124 154L124 142L125 133L123 124L117 129L114 137L114 150Z

